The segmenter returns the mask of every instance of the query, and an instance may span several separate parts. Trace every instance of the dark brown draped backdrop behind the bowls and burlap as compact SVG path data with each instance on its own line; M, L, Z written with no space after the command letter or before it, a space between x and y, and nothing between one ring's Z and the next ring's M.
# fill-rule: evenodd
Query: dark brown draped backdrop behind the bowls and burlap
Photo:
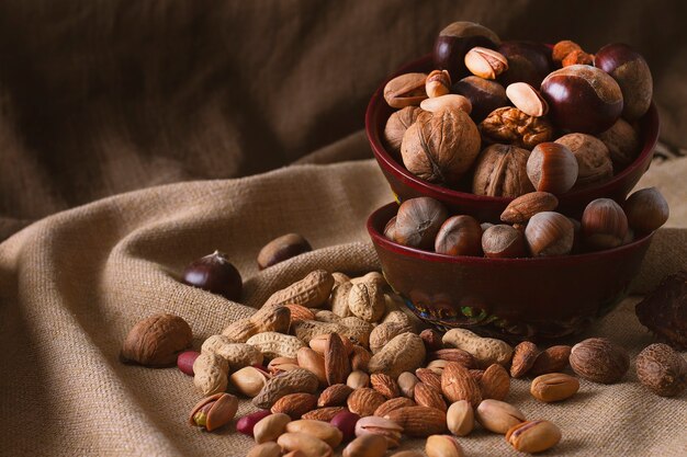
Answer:
M136 188L331 147L370 157L369 96L454 20L589 52L633 45L654 73L663 140L687 146L685 18L679 0L3 1L0 240Z

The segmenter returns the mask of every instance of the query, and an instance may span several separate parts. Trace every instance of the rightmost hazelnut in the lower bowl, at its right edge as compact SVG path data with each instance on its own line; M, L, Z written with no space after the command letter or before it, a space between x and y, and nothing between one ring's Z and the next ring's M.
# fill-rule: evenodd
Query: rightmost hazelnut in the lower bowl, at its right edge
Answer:
M637 191L628 197L622 209L628 217L628 225L640 233L656 230L671 215L668 202L656 187Z

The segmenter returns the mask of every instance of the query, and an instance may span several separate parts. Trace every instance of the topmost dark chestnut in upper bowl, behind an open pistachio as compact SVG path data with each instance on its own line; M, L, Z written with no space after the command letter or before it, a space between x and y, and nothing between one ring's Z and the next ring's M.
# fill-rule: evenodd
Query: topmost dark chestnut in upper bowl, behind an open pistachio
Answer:
M435 41L435 67L449 70L452 81L468 73L465 54L475 46L496 49L500 44L498 35L474 22L458 21L447 25Z

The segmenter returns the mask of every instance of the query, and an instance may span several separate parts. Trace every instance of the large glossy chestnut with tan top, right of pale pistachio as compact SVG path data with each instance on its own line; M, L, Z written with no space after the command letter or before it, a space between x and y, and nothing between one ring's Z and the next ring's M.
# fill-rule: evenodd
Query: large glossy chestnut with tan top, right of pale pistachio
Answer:
M541 83L549 115L563 129L598 134L622 113L622 92L607 72L588 65L572 65L550 73Z

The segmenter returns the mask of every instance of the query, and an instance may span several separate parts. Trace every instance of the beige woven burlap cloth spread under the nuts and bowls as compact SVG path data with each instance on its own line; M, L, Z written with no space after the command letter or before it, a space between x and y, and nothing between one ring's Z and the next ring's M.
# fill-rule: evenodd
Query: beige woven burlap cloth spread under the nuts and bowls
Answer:
M655 163L647 175L687 170ZM682 174L684 175L684 174ZM679 178L680 174L674 174ZM685 202L684 181L662 186ZM192 259L230 253L260 306L277 288L314 269L379 269L367 216L392 199L372 161L297 165L233 181L153 187L57 214L0 245L0 418L2 455L244 456L251 441L228 426L202 433L187 424L199 400L176 368L119 362L121 342L139 319L173 312L203 339L252 309L177 278ZM672 220L685 227L685 219ZM275 236L297 231L315 251L258 272L255 258ZM640 285L686 267L686 231L660 231ZM651 272L651 274L646 274ZM605 335L634 355L652 341L629 299L586 334ZM515 380L508 400L528 418L559 424L563 441L547 455L685 456L686 396L647 393L631 372L613 386L583 381L575 398L541 404ZM251 410L241 401L239 415ZM461 438L470 456L517 455L503 436ZM423 446L405 441L403 448Z

